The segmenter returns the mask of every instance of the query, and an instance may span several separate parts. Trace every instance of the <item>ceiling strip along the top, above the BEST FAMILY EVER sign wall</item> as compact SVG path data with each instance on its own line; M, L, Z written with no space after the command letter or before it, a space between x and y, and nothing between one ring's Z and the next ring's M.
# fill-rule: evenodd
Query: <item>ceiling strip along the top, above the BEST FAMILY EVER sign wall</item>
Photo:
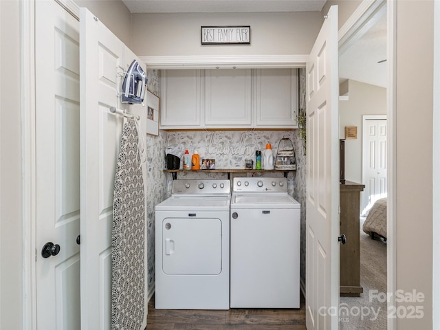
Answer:
M327 0L122 0L135 12L321 11Z

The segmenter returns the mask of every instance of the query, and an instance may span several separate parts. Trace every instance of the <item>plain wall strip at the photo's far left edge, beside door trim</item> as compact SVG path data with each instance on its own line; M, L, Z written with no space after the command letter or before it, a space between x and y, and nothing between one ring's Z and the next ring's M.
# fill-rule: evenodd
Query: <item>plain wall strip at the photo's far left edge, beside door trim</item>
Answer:
M19 1L0 1L0 329L22 329ZM8 45L8 47L4 47Z

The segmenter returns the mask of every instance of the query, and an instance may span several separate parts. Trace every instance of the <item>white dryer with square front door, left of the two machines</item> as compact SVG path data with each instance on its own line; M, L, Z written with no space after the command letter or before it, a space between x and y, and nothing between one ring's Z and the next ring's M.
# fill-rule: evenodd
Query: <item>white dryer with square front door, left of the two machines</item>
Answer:
M155 308L229 309L230 181L174 180L155 207Z

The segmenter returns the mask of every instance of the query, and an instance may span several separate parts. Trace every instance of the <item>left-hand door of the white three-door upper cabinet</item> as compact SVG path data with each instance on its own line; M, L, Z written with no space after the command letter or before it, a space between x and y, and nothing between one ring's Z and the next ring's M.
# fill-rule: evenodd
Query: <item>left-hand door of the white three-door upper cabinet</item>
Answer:
M199 129L201 70L162 70L160 129Z

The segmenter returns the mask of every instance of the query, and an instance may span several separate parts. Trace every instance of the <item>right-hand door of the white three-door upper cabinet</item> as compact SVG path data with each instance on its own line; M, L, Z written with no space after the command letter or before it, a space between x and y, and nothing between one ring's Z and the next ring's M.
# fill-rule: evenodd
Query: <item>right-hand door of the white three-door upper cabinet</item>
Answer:
M298 69L256 70L256 127L298 128Z

